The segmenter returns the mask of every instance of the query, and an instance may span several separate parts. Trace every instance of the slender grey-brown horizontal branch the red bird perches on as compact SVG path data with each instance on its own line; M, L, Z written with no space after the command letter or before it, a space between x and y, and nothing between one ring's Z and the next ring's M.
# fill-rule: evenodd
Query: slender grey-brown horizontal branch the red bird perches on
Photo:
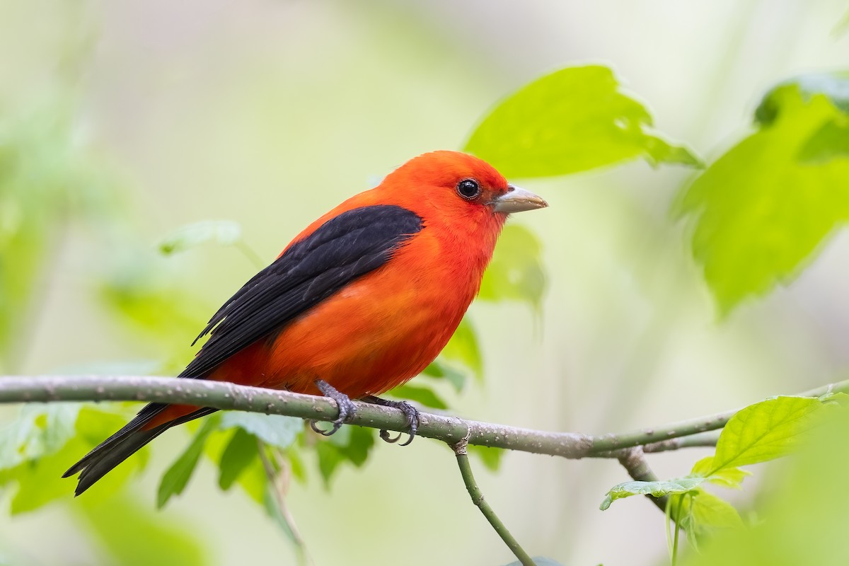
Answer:
M818 397L849 391L849 380L810 389L801 396ZM0 403L52 401L155 401L217 409L264 412L319 421L338 414L335 401L277 389L262 389L204 379L117 376L6 376L0 377ZM357 415L351 424L404 432L406 417L395 408L354 401ZM621 449L649 445L647 451L673 450L685 446L710 446L712 437L698 434L721 429L736 411L728 411L626 434L589 434L521 429L495 423L467 421L421 412L419 436L449 445L467 438L468 443L565 458L620 457ZM669 442L692 436L692 440Z

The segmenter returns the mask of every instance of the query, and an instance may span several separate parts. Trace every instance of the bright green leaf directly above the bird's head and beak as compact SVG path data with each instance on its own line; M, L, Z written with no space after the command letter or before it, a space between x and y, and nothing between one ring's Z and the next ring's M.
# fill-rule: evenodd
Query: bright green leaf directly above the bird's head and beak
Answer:
M643 157L652 165L699 166L689 149L651 129L643 104L622 92L607 67L567 67L503 100L465 150L507 177L551 177Z

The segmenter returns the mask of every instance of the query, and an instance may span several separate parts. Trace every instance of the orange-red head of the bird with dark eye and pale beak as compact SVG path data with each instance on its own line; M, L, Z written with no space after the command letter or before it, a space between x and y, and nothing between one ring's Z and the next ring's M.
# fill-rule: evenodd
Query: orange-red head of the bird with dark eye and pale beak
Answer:
M427 203L450 216L495 217L548 206L543 199L511 185L486 161L458 151L434 151L409 160L386 177L384 185L404 198Z

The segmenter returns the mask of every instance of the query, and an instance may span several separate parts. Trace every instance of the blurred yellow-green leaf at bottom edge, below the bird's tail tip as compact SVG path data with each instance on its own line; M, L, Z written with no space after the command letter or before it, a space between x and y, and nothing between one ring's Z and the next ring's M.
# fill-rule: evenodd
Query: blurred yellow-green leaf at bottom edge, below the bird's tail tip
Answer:
M103 502L83 497L76 503L74 508L84 514L101 546L114 558L108 563L121 566L207 563L205 546L186 529L186 521L153 513L148 505L121 493Z

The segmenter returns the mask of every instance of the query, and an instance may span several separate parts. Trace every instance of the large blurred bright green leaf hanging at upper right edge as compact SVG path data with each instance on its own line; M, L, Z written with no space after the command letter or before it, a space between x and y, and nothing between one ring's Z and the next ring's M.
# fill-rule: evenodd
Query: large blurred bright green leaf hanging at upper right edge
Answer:
M790 283L849 219L847 116L823 94L782 87L773 119L683 191L692 251L722 315ZM762 113L765 110L762 110Z

